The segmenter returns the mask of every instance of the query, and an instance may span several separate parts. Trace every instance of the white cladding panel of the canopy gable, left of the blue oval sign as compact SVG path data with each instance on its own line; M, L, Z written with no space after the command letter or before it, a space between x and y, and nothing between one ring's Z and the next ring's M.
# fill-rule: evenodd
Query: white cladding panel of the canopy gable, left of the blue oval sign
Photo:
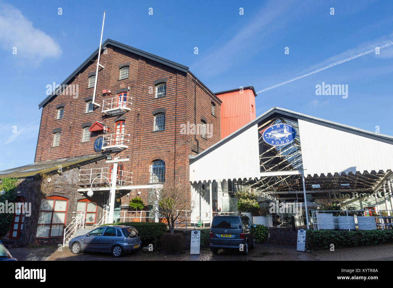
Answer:
M191 182L258 177L260 171L257 124L210 153L201 154L202 157L190 164Z

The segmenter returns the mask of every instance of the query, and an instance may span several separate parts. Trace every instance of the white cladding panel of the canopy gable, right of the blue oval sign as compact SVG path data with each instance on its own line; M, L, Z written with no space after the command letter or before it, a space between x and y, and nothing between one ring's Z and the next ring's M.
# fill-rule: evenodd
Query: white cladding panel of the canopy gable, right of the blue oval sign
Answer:
M309 175L393 168L393 145L299 119L303 169Z

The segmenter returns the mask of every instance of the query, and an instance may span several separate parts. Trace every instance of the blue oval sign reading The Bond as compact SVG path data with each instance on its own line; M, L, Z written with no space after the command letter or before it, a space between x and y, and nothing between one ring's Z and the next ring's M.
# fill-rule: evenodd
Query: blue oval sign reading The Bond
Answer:
M263 131L263 140L273 146L286 145L296 137L296 129L288 124L274 124Z

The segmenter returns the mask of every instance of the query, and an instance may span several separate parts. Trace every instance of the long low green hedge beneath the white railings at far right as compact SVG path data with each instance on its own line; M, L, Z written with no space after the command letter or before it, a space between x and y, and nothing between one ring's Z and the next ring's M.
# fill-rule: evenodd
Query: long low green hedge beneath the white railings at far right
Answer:
M307 250L354 247L393 243L392 230L362 230L362 231L334 231L334 230L307 230Z

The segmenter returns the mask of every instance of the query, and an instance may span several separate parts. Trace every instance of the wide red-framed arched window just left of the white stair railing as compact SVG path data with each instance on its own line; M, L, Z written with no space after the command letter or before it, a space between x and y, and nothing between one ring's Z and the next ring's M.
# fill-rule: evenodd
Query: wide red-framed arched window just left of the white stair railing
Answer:
M68 199L51 196L42 199L37 237L62 236L67 218Z

